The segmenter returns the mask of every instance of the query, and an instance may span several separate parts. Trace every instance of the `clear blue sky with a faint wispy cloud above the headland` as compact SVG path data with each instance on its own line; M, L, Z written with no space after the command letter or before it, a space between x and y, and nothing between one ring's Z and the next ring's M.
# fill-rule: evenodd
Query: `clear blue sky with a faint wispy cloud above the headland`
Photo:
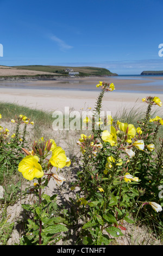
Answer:
M0 65L163 70L162 0L0 0Z

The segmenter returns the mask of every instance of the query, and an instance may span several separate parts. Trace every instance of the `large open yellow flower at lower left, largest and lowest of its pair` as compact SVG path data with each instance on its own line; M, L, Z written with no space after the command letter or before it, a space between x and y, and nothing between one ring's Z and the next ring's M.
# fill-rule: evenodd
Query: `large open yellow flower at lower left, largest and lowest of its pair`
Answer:
M43 170L39 162L38 156L26 156L18 164L18 171L22 173L23 177L27 180L33 180L34 178L41 178L43 176Z

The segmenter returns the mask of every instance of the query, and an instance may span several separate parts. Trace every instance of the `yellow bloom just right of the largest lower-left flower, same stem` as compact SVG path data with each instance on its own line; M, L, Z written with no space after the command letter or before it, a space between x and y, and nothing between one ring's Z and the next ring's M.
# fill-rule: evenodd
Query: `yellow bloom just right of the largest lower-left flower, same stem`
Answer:
M61 147L54 148L49 163L54 167L63 168L66 166L66 161L67 157L65 155L65 151Z

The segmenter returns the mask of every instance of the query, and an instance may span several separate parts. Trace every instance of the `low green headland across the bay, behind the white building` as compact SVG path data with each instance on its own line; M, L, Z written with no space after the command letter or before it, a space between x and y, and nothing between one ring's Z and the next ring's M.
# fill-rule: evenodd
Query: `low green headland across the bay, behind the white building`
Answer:
M108 69L104 68L94 68L90 66L80 66L80 67L71 67L71 66L43 66L43 65L28 65L28 66L12 66L12 68L17 69L26 69L26 70L35 70L43 72L51 72L60 75L68 75L65 70L67 68L73 69L74 72L79 72L79 76L113 76L113 74Z

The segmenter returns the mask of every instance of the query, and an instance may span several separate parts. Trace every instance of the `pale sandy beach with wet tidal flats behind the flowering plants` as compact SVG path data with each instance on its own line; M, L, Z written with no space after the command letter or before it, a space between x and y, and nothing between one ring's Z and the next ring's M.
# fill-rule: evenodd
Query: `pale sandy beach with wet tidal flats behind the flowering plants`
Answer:
M142 98L158 96L163 101L163 77L60 77L53 81L0 81L0 101L17 103L43 111L62 111L70 107L75 111L94 108L100 88L100 81L114 83L116 90L105 93L103 110L114 115L124 107L145 107ZM158 84L153 85L154 81ZM162 84L162 85L161 85Z

